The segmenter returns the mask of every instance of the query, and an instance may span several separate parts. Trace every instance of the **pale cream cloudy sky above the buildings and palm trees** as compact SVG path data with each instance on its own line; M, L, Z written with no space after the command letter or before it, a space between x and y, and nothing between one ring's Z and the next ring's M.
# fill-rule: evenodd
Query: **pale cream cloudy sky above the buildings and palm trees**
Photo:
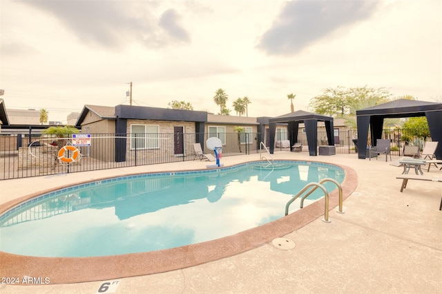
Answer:
M84 105L218 114L247 96L248 115L312 111L327 88L385 88L442 102L439 0L0 0L6 109L66 123Z

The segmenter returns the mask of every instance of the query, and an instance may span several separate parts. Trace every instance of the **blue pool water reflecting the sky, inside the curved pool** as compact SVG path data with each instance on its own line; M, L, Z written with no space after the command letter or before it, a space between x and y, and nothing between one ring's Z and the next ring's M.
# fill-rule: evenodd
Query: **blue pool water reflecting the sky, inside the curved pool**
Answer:
M140 174L90 182L32 198L0 216L0 250L41 257L88 257L169 249L215 240L285 215L309 182L340 167L278 161ZM336 189L331 182L327 191ZM323 197L315 191L305 206ZM296 200L290 213L299 209Z

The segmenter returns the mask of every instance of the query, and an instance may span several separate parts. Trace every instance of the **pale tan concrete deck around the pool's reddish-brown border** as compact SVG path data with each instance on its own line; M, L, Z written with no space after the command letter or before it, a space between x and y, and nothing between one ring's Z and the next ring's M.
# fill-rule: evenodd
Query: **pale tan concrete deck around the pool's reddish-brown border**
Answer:
M358 175L345 213L332 222L316 217L287 233L294 249L271 242L229 258L153 275L124 277L115 293L440 293L442 288L442 197L440 182L410 181L400 192L403 171L385 160L356 154L309 156L277 152L274 159L313 160L352 167ZM224 165L258 160L258 154L222 158ZM398 158L393 158L393 160ZM200 160L0 181L0 204L35 191L137 172L204 169ZM432 168L425 173L441 176ZM52 186L51 186L52 185ZM294 192L296 193L296 192ZM0 236L1 238L1 236ZM113 264L115 268L127 264ZM99 264L97 265L99 270ZM56 269L55 269L56 271ZM1 277L8 273L1 269ZM76 273L72 273L75 275ZM23 269L20 280L28 275ZM97 293L105 280L73 284L11 286L1 293Z

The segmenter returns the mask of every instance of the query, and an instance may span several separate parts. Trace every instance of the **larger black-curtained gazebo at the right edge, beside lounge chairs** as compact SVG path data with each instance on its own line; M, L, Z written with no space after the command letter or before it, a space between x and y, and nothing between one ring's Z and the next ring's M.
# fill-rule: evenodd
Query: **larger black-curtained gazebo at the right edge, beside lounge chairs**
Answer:
M442 159L442 103L398 99L380 105L367 107L356 111L358 123L358 158L365 159L368 129L372 135L372 146L376 139L381 138L384 118L406 118L426 116L430 136L433 141L438 141L436 158Z

